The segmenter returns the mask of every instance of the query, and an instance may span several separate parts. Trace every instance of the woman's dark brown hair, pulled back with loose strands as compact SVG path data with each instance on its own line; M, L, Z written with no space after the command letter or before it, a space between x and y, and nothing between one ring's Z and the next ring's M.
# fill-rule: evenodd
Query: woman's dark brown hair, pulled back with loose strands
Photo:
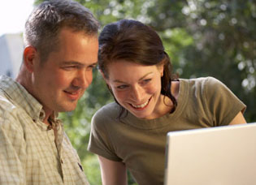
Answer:
M170 113L176 110L177 101L171 95L171 80L173 80L171 61L164 51L162 40L154 29L132 19L122 19L107 24L99 36L98 52L98 67L106 79L109 78L107 68L109 64L121 59L144 66L158 66L164 63L161 94L169 97L173 103ZM123 113L124 108L119 118Z

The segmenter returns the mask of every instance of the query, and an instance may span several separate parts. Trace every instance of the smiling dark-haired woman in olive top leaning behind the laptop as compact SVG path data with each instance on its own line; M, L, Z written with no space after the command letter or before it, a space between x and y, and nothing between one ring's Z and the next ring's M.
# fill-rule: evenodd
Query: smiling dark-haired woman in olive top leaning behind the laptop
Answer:
M89 151L98 154L102 183L163 184L168 131L246 123L245 105L219 80L171 77L158 34L135 20L103 28L98 67L115 97L93 116Z

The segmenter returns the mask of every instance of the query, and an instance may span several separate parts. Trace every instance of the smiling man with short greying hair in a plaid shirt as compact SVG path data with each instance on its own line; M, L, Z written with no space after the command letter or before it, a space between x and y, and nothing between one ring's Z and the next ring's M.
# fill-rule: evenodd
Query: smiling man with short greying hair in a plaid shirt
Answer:
M88 184L56 117L92 82L98 28L67 0L43 2L28 17L20 73L0 77L0 184Z

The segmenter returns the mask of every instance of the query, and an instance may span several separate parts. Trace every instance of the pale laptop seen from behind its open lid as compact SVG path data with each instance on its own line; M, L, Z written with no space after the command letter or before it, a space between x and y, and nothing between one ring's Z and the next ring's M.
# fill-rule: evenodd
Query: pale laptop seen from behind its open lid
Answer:
M167 133L165 185L256 185L256 123Z

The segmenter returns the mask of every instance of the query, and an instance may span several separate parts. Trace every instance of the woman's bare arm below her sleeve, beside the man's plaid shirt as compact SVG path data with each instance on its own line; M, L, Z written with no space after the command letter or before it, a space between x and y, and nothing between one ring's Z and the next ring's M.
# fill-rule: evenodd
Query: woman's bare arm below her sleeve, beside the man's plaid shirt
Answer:
M126 167L123 162L98 156L102 172L102 185L127 185Z

